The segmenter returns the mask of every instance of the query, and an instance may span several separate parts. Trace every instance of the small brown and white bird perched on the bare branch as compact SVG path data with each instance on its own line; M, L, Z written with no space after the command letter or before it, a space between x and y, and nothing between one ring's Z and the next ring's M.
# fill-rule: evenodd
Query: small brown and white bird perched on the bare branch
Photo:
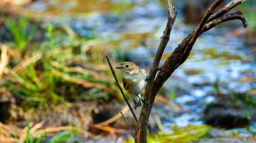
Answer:
M132 62L123 62L116 68L119 68L123 73L123 85L132 96L134 108L140 107L142 105L140 92L145 85L146 70Z

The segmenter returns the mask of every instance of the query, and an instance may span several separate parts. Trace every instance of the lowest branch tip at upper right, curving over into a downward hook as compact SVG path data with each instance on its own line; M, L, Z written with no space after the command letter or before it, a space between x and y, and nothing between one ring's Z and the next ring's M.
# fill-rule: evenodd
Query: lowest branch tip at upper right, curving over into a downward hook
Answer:
M202 29L201 33L204 33L207 30L210 30L211 28L215 27L218 24L221 24L222 22L231 21L231 20L235 20L235 19L240 19L243 22L244 28L247 27L247 21L244 18L243 13L236 12L236 13L232 13L230 15L221 16L218 19L215 19L215 20L213 20L211 22L208 22L207 24L204 25L204 28Z

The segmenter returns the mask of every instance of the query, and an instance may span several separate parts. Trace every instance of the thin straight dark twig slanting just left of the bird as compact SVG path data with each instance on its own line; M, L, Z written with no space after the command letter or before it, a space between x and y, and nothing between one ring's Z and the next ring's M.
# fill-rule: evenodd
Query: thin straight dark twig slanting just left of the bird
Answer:
M113 75L114 78L115 78L116 84L118 85L118 88L119 88L119 90L121 91L121 93L122 93L122 95L123 95L123 97L124 97L124 101L126 101L126 104L129 106L130 111L132 112L133 118L135 119L135 121L136 121L137 124L138 124L138 118L137 118L137 116L135 115L135 111L133 110L132 105L130 105L130 102L128 101L126 95L124 95L124 91L123 91L121 85L119 84L118 79L116 78L116 73L115 73L115 70L114 70L113 67L112 67L112 64L110 63L110 61L109 61L109 59L108 59L107 56L106 56L106 58L107 58L107 62L108 62L108 65L109 65L109 67L110 67L110 70L111 70L111 72L112 72L112 75Z

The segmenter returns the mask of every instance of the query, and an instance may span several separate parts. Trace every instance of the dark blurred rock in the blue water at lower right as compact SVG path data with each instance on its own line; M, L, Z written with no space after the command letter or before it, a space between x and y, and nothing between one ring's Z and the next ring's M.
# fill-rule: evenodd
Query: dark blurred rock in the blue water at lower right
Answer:
M244 94L220 96L205 107L202 119L214 127L243 127L256 120L254 100Z

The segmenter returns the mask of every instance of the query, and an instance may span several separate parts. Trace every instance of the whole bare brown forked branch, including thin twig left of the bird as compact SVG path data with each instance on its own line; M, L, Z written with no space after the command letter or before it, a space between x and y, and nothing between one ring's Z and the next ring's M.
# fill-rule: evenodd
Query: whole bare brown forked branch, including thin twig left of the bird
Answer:
M129 104L121 86L118 83L118 80L115 75L115 71L112 68L108 58L108 64L112 70L112 73L116 79L116 84L118 84L119 90L122 92L124 99L132 111L132 115L137 122L136 131L132 131L130 129L135 142L147 142L147 127L149 116L151 114L152 105L154 104L155 96L157 95L160 88L163 86L165 81L171 76L174 70L176 70L183 62L186 61L188 56L190 55L190 51L193 48L196 39L204 32L207 32L211 28L215 27L222 22L239 19L243 23L243 27L247 27L247 21L244 18L243 13L235 12L227 15L227 12L235 8L237 5L240 5L242 2L246 0L233 0L230 1L229 4L221 7L222 2L224 0L215 0L212 5L207 9L204 17L201 22L197 25L197 27L191 32L182 42L176 47L176 49L172 52L171 55L166 59L162 67L159 66L160 59L162 58L163 52L165 50L166 45L168 44L169 37L171 34L172 25L174 24L177 16L177 12L175 7L172 5L171 0L168 0L168 20L163 32L163 36L160 40L160 44L158 45L157 52L155 53L154 59L152 61L152 66L149 71L149 76L147 78L147 84L144 95L144 102L148 104L143 104L140 112L140 118L138 119L135 115L135 112L132 106ZM221 7L217 9L218 7ZM160 70L159 70L160 69ZM158 74L157 71L159 70ZM125 118L124 118L125 119ZM135 132L135 133L133 133Z

